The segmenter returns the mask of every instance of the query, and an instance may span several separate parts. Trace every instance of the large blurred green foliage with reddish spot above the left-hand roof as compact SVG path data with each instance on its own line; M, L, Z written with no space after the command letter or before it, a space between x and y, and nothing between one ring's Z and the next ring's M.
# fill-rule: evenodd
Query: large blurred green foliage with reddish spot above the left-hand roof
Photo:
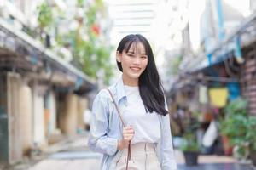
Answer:
M45 41L45 33L55 38L52 42L56 43L52 48L57 49L56 54L64 59L65 54L60 49L67 48L72 54L70 60L73 65L89 77L103 79L108 84L114 67L109 62L112 50L107 39L109 26L102 22L108 20L107 8L102 0L76 1L79 12L74 14L67 13L55 3L44 2L38 6L40 40ZM61 29L63 23L67 22L70 25Z

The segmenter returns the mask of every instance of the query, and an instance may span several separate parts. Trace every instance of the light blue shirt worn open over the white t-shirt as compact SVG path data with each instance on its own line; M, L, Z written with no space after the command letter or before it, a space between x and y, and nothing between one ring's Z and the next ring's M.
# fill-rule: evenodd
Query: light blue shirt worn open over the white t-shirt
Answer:
M122 113L127 105L127 97L122 77L113 86L109 87L114 100L119 105ZM167 105L166 105L167 109ZM160 142L155 144L157 156L162 170L177 170L173 154L172 135L170 129L169 115L161 116L160 121ZM118 140L122 139L122 122L119 119L113 100L107 89L102 89L96 95L92 105L92 117L90 122L90 134L88 145L91 150L103 154L101 169L109 170L113 157L118 153ZM132 151L132 150L131 150Z

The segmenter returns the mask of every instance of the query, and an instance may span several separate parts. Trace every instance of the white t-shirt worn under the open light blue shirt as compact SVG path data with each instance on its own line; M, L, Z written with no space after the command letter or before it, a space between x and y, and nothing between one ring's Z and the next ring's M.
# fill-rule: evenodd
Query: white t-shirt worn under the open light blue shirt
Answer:
M157 113L147 113L138 87L125 85L127 106L123 111L125 125L132 126L135 135L131 144L140 142L156 143L160 140L160 121Z

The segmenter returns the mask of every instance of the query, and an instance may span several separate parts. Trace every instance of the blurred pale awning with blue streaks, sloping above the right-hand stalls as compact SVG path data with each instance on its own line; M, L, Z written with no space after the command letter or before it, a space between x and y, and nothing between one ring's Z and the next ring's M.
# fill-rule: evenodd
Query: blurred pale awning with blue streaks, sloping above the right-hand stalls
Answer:
M218 46L212 48L207 53L199 54L199 56L187 64L183 65L183 71L195 72L204 69L208 66L216 65L230 57L241 57L241 48L247 47L256 38L256 12L253 13L247 20L241 23L230 36L226 37L223 42L219 42Z

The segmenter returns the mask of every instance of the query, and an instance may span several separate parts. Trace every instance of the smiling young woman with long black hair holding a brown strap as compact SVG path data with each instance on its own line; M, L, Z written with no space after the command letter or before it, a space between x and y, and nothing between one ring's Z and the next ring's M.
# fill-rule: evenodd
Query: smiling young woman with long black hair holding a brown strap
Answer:
M90 149L103 154L102 170L125 169L127 163L128 169L176 170L166 99L147 39L138 34L124 37L116 60L123 74L96 95Z

